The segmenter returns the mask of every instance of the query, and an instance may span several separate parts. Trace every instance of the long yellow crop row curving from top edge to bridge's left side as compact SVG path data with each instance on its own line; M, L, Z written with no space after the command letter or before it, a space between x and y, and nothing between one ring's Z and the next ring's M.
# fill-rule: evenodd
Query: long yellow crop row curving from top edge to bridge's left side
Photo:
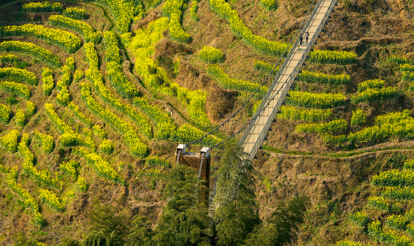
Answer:
M288 48L288 43L269 41L264 37L259 37L252 33L252 31L244 25L242 19L236 10L231 8L230 3L225 0L210 0L210 8L216 12L219 17L225 19L229 25L230 30L237 36L250 45L253 49L270 56L281 56Z

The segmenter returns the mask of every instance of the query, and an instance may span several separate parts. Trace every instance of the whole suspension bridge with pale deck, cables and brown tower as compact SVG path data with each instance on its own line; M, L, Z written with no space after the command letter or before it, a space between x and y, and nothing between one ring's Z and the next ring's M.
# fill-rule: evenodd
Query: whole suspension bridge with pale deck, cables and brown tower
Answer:
M297 32L295 33L295 36L288 45L288 48L282 55L282 57L286 55L284 62L280 66L275 79L269 86L268 92L262 99L262 103L257 108L257 111L255 112L253 118L240 130L235 132L235 134L228 137L228 139L230 139L238 134L243 133L242 138L239 141L239 145L243 147L244 152L248 153L250 161L255 158L257 150L259 150L259 148L262 146L263 141L266 139L266 134L268 133L271 123L277 118L277 113L279 112L280 107L284 104L284 100L286 99L286 96L288 96L290 89L293 88L297 74L301 72L306 57L308 57L309 52L313 50L313 45L316 44L319 34L322 32L326 21L328 21L328 18L331 15L331 12L333 12L333 8L335 8L337 5L337 1L338 0L319 0L316 3L316 0L313 0L311 7L306 13L304 21L302 21ZM306 37L306 32L309 34L308 41L306 42L306 39L301 41L299 37ZM180 144L177 147L177 151L175 153L177 163L182 162L184 165L193 166L199 170L199 177L209 179L209 152L213 148L224 143L224 141L212 147L203 147L200 153L186 152L186 147L196 143L201 144L202 140L206 138L206 136L213 134L221 127L223 127L224 124L228 123L230 119L233 119L233 117L235 117L236 114L238 114L240 110L246 106L250 99L252 99L253 96L257 94L259 89L266 83L270 75L273 74L273 71L275 68L277 68L281 61L282 58L279 59L279 61L275 64L275 67L268 74L266 79L264 79L259 88L257 88L257 90L249 97L249 99L244 102L244 104L239 107L235 113L226 119L226 121L221 123L221 125L217 126L208 134L201 136L201 138L191 143ZM183 161L180 161L180 158ZM205 164L203 165L203 163ZM209 180L207 182L209 183Z

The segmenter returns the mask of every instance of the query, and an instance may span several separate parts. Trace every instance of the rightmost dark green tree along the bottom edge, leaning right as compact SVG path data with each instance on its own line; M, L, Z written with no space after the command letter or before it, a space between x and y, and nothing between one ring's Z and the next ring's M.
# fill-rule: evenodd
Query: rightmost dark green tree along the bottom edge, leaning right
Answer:
M304 222L308 206L306 196L297 196L290 201L277 205L275 212L267 220L267 225L260 225L246 240L246 245L290 245L297 240L299 225Z

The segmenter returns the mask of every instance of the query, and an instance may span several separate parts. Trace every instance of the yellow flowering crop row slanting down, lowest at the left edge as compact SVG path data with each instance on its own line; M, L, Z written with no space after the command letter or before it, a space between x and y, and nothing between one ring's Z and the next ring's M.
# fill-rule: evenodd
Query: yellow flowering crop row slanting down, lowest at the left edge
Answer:
M12 192L19 195L21 200L23 200L23 203L32 210L32 213L34 214L34 223L37 225L43 225L44 220L39 213L39 205L37 204L37 201L34 200L33 196L30 195L26 189L23 189L19 183L17 183L17 172L17 167L13 167L12 170L10 170L6 178L7 186L12 190Z

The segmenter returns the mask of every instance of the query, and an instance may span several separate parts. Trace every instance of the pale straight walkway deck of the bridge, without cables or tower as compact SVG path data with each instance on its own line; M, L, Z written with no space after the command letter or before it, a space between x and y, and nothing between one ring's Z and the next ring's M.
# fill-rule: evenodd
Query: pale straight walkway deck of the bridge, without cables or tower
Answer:
M250 160L253 160L257 150L262 145L270 124L275 119L277 112L279 112L280 106L282 106L296 79L296 75L302 68L308 53L315 44L336 3L337 0L319 0L316 4L306 25L302 29L303 35L309 32L309 42L306 43L304 39L302 45L300 45L299 39L297 39L293 44L277 73L275 81L270 85L266 96L264 96L262 104L257 109L248 127L246 127L246 131L239 144L242 145L245 152L250 154Z

